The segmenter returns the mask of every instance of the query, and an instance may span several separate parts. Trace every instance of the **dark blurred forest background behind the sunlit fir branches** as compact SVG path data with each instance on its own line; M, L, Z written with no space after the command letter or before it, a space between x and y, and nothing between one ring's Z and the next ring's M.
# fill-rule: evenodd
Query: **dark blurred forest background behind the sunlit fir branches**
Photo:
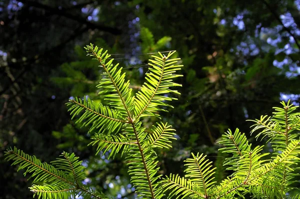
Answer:
M247 119L270 115L280 100L300 103L299 10L300 0L0 0L0 198L32 198L30 180L3 159L11 146L47 162L74 152L86 184L134 198L123 159L94 156L64 105L74 96L100 100L101 70L83 49L90 42L109 50L135 90L151 53L176 50L181 95L162 118L178 139L159 154L160 171L182 172L190 152L221 167L215 142L224 131L250 138Z

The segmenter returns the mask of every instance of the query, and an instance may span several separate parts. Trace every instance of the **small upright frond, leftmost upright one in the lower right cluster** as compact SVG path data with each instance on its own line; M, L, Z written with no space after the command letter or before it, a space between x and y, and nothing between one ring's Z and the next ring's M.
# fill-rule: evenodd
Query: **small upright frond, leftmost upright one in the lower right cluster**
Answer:
M184 161L186 162L184 166L187 166L187 169L184 170L186 173L185 178L189 178L191 182L195 183L198 191L203 193L207 198L208 190L215 184L215 182L212 181L214 179L212 176L215 168L211 168L212 162L208 162L208 160L205 159L206 155L199 155L199 153L197 153L196 156L193 153L191 153L191 155L192 158L188 158Z

